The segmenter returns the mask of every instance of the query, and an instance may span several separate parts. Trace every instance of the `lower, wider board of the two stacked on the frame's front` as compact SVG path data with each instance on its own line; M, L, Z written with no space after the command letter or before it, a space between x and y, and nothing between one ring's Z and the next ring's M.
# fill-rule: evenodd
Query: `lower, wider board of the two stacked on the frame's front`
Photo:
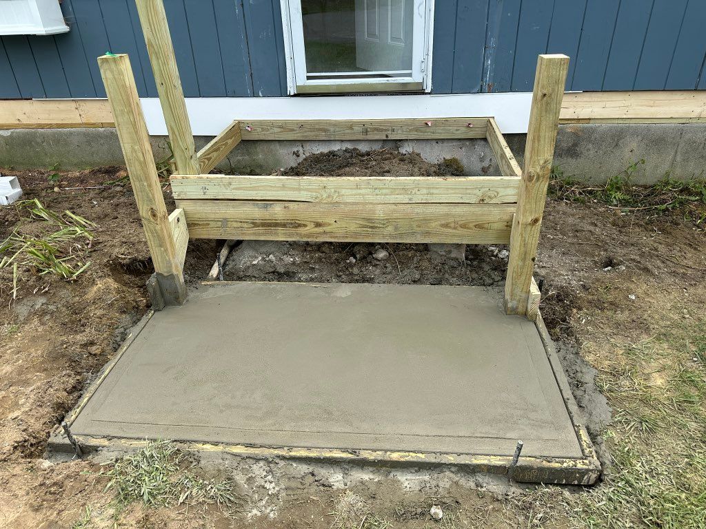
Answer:
M503 244L512 204L320 204L177 200L191 238Z

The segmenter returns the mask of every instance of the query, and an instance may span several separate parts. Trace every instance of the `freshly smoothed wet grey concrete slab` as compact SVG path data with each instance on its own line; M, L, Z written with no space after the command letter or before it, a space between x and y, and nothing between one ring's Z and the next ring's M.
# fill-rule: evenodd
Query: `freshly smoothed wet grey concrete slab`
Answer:
M467 286L203 286L152 316L71 432L583 456L537 328Z

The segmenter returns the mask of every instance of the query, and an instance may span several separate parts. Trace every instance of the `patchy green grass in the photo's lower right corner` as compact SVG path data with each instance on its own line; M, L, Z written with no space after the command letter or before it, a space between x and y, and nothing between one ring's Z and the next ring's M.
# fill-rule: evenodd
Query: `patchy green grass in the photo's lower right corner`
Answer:
M663 329L642 343L616 343L597 380L614 408L604 482L582 494L532 492L522 499L528 520L554 502L577 528L706 528L706 367L694 360L706 329L695 320Z

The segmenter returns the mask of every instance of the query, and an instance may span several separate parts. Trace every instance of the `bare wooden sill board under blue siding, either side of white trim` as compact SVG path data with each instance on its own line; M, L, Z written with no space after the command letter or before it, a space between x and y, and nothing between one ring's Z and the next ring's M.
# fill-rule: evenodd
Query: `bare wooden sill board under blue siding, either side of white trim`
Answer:
M406 97L414 104L414 96ZM559 122L706 123L706 90L568 92L563 97ZM106 99L0 101L0 129L114 126Z

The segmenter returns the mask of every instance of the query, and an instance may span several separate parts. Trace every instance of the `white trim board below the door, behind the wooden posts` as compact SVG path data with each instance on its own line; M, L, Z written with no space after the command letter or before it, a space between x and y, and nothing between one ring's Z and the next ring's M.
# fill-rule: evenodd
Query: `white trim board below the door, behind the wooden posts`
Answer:
M156 97L141 98L151 135L167 135ZM215 136L234 119L395 119L494 116L504 134L526 133L532 93L186 98L191 130Z

